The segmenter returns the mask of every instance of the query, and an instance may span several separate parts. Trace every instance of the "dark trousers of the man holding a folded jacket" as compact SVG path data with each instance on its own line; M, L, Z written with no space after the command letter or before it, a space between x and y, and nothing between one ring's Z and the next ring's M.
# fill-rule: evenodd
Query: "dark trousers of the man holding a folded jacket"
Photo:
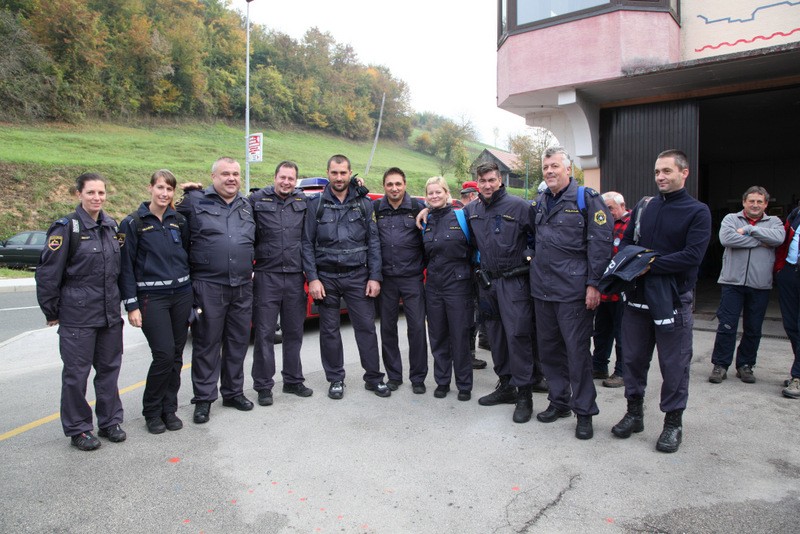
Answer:
M649 310L627 306L622 316L622 355L625 358L625 398L643 398L647 373L658 348L661 368L661 411L686 408L689 365L692 362L692 293L681 295L681 307L672 331L657 329Z

